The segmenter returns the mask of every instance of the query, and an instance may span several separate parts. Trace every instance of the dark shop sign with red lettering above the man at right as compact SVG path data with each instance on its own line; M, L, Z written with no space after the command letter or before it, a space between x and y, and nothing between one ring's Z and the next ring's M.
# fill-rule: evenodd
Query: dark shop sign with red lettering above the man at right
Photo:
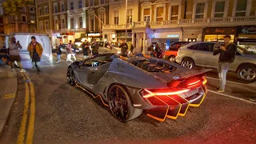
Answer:
M208 28L204 29L204 34L236 34L236 28L234 28L234 27L227 27L227 28L208 27Z

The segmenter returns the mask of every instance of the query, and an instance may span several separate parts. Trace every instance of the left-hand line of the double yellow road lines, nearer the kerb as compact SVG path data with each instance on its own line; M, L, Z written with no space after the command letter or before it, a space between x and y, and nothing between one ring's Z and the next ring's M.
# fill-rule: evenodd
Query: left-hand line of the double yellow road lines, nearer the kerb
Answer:
M23 78L25 78L24 75L23 75ZM25 83L25 89L26 89L25 104L24 104L24 110L22 114L22 122L18 132L18 140L17 140L18 144L24 142L24 136L25 136L25 130L26 130L26 119L27 119L27 114L28 114L27 112L29 109L29 101L30 101L29 86L27 82Z

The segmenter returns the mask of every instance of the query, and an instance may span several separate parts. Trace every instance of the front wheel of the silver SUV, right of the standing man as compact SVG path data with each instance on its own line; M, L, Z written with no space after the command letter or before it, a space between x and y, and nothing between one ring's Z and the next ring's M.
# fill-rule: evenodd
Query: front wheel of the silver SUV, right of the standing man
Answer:
M245 82L254 82L256 80L256 66L240 66L238 68L238 78Z

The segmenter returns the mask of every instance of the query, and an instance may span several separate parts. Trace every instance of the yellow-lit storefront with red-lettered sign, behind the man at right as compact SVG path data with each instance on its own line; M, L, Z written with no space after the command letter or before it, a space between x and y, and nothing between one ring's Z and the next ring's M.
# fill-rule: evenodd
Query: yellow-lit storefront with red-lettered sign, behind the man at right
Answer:
M224 42L224 36L229 34L231 36L231 42L234 42L237 28L235 27L206 27L203 30L204 42Z

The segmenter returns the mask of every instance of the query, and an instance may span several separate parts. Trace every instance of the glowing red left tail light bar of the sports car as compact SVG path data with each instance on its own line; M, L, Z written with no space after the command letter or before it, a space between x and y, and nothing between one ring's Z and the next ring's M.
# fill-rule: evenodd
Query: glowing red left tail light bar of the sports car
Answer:
M144 89L141 91L141 95L143 98L150 98L154 96L163 96L163 95L176 95L182 94L189 91L189 89L181 89L181 90L173 90L173 89L159 89L159 90L147 90Z

